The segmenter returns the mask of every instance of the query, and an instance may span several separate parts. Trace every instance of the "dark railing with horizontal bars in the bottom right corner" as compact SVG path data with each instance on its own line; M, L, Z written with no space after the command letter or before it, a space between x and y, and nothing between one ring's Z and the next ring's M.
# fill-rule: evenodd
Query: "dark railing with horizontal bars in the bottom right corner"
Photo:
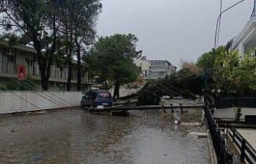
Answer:
M226 134L231 137L232 142L238 148L240 152L240 161L248 163L256 163L256 150L244 137L241 133L238 132L234 127L226 126Z

